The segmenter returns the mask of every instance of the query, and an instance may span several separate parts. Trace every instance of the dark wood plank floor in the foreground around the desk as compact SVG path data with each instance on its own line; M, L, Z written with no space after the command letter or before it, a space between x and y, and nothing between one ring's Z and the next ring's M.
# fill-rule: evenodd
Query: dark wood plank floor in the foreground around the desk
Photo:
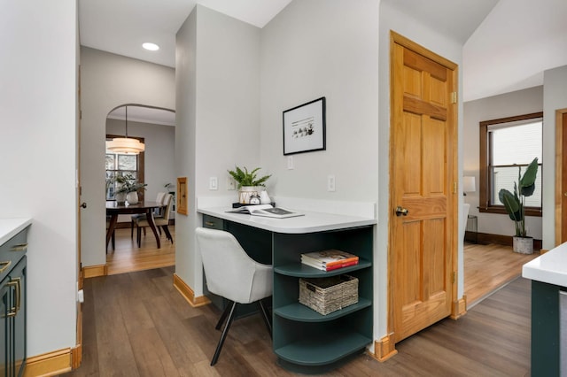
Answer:
M214 306L192 308L173 288L174 267L85 280L82 366L67 376L289 376L259 315L238 319L219 362ZM522 278L458 320L396 345L379 363L365 354L330 376L527 376L530 282Z

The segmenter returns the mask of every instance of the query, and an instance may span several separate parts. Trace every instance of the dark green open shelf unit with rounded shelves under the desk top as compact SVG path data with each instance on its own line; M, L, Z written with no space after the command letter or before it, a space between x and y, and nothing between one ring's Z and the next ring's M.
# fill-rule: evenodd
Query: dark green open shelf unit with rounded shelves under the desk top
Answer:
M274 352L296 373L325 373L372 342L372 227L304 235L274 235ZM301 263L301 254L344 250L357 265L325 272ZM359 281L358 303L322 315L299 304L299 279L348 273Z

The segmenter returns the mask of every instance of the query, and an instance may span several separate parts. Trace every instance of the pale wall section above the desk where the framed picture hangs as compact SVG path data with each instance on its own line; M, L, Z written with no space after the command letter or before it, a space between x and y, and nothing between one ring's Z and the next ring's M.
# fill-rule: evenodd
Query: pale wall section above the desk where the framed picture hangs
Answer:
M378 2L293 1L261 31L261 166L270 195L376 202ZM326 97L326 150L283 156L282 112ZM336 191L327 191L335 175Z

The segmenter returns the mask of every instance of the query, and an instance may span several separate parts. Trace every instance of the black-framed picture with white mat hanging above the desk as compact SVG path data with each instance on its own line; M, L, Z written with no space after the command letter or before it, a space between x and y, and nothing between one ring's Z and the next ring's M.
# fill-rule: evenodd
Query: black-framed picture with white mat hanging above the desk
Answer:
M283 112L283 156L325 150L325 97Z

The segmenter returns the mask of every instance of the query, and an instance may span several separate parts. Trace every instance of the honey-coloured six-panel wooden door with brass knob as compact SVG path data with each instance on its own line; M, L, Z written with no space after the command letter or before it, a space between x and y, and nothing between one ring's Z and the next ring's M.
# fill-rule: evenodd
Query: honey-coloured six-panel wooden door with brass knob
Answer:
M456 65L392 33L394 342L449 316L456 300L456 77Z

